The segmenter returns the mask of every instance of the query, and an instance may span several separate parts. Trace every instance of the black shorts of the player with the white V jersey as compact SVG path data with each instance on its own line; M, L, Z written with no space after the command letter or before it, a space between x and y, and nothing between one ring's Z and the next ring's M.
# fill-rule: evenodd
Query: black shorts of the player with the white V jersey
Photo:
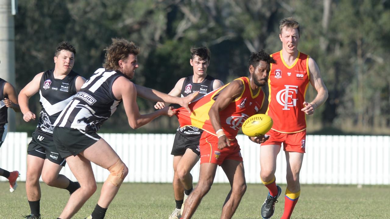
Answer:
M35 157L41 157L42 159L48 159L60 166L65 166L66 164L65 158L59 154L53 140L38 135L35 132L32 133L32 140L28 144L27 154Z

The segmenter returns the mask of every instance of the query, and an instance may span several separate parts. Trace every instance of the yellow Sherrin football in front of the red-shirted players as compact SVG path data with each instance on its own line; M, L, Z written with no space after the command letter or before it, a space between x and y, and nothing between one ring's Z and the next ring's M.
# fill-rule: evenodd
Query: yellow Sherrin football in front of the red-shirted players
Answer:
M242 125L243 133L250 137L266 134L272 128L272 118L265 114L255 114L245 120Z

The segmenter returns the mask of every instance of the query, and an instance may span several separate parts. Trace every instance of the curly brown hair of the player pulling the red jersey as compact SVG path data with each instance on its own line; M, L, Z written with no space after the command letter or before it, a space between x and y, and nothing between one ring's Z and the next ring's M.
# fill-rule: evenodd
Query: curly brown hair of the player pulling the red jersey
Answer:
M112 44L105 48L106 55L103 67L109 70L119 69L119 60L125 60L130 54L138 55L140 48L126 39L113 38Z

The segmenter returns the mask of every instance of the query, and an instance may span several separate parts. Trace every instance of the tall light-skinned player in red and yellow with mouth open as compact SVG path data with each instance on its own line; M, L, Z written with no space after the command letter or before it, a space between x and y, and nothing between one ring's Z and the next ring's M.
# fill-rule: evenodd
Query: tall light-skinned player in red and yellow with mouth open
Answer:
M260 147L260 177L269 189L261 208L263 219L271 218L275 202L282 189L275 183L276 158L283 143L287 161L287 189L282 219L290 218L300 195L299 173L305 153L306 115L328 98L328 90L321 78L316 62L298 51L300 26L293 18L280 21L279 38L282 50L271 56L277 64L271 64L269 72L269 106L266 114L273 119L273 127L267 133L269 140ZM312 102L305 101L309 83L317 90Z

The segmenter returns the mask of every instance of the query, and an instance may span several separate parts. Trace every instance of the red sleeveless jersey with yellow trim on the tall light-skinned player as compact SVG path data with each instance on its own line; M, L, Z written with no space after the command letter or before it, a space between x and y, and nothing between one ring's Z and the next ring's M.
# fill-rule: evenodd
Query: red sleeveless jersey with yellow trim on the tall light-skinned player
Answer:
M268 87L268 110L273 119L272 129L282 133L295 133L306 129L305 113L301 111L309 85L309 56L298 51L293 65L284 62L282 51L271 55Z

